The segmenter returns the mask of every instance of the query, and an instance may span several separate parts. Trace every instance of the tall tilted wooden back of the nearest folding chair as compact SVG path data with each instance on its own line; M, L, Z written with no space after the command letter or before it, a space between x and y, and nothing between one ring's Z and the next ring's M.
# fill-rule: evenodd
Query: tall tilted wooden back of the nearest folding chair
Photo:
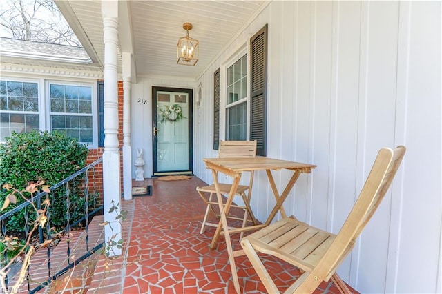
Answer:
M311 271L309 277L326 276L329 278L333 275L336 267L342 262L349 249L352 248L355 240L367 225L376 208L378 208L385 193L387 193L394 175L401 165L404 154L404 146L398 146L394 150L390 148L379 150L356 204L354 204L334 243L318 263L318 266ZM336 258L337 256L341 258Z

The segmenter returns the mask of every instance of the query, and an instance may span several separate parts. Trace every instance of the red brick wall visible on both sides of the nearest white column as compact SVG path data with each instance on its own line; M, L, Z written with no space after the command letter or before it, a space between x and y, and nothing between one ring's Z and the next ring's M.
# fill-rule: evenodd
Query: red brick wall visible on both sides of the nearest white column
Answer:
M120 190L123 191L123 82L118 82L118 141L119 141L119 177L121 179ZM88 157L86 158L86 165L92 164L95 160L102 157L104 147L94 148L89 150ZM99 164L95 168L95 177L89 175L89 189L99 194L97 204L103 204L103 166Z

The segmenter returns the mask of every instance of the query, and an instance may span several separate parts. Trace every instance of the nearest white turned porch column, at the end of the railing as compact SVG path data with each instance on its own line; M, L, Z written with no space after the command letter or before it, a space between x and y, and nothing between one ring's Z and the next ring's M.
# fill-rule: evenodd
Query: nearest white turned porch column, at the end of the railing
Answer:
M121 211L121 186L118 142L118 80L117 80L117 43L118 43L118 2L102 1L104 24L104 153L103 153L103 198L104 241L122 239L121 224L116 221L115 212L109 213L112 206L118 205ZM121 255L122 250L113 246L109 255Z

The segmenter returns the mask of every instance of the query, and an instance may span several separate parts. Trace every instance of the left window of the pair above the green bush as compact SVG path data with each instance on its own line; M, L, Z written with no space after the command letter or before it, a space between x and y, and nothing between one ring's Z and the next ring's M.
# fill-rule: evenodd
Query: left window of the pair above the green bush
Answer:
M39 130L39 86L25 81L0 81L0 142L12 132Z

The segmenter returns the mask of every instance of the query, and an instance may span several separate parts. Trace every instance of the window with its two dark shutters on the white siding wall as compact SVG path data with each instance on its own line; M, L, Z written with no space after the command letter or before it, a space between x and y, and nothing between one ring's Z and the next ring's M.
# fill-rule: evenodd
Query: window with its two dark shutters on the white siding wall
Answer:
M266 156L267 133L267 24L249 40L247 54L234 60L225 70L225 126L227 140L256 140L256 155ZM238 55L237 55L238 56ZM249 72L247 71L249 62ZM224 73L224 72L223 72ZM249 76L247 76L249 75ZM220 139L220 72L214 75L213 148ZM249 84L247 84L249 80ZM223 79L224 81L224 79ZM247 89L249 94L247 94ZM247 97L249 95L250 97ZM224 109L224 107L222 108ZM248 113L249 112L249 113ZM247 120L249 117L249 121ZM222 119L222 114L221 114ZM249 130L249 135L247 134Z

